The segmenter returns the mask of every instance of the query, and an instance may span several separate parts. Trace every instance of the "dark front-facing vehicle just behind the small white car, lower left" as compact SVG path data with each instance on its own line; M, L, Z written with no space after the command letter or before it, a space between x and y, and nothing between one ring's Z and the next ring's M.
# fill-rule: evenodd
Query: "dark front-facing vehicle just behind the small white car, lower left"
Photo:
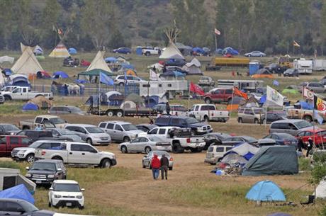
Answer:
M67 170L63 161L60 160L38 160L33 163L25 175L26 178L34 181L36 184L50 184L55 179L66 179Z

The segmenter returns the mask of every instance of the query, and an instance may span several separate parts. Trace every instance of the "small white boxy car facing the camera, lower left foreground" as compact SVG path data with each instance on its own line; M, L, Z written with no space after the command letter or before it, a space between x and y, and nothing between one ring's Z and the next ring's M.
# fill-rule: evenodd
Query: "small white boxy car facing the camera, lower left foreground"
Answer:
M49 188L49 207L78 207L84 208L84 188L77 181L55 180Z

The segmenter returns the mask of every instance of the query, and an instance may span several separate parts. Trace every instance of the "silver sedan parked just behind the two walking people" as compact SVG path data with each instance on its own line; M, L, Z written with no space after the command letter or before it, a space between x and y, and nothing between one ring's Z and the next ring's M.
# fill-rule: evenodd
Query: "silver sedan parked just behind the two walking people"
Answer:
M145 152L148 154L152 150L172 152L172 145L170 142L164 140L161 137L137 137L130 142L123 142L119 144L118 149L122 153Z

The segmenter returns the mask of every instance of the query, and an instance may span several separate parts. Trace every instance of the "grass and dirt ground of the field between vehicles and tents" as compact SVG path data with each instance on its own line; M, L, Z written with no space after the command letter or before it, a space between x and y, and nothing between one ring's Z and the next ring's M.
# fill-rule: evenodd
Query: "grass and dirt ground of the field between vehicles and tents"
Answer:
M0 52L0 56L9 55L19 57L19 52ZM96 53L77 55L80 59L91 61ZM106 57L115 56L107 53ZM135 65L137 74L147 79L147 65L157 62L157 57L139 57L128 55L130 62ZM203 68L209 57L199 57ZM267 63L273 58L262 58ZM40 61L43 68L49 72L63 70L69 76L82 72L84 68L62 67L62 59L52 59L46 57ZM11 67L11 65L5 65ZM219 72L204 72L206 76L211 76L215 81L218 79L251 79L248 76L232 77L232 71L239 71L242 74L247 69L227 69ZM291 84L299 84L302 81L320 80L324 74L318 72L313 76L300 76L296 78L279 78L280 86L276 89ZM200 76L187 76L194 83L197 83ZM264 79L266 84L271 85L273 80ZM36 80L35 84L47 84L49 81ZM296 101L300 95L287 95L291 101ZM74 105L86 110L84 106L86 98L82 97L55 97L55 105ZM172 100L170 103L181 103L188 105L186 100ZM191 104L201 103L199 100L191 100ZM46 113L23 113L21 107L23 102L4 103L0 106L0 122L15 123L19 120L34 118L35 115ZM220 106L220 105L218 105ZM223 108L225 106L221 106ZM107 116L76 116L62 115L69 123L90 123L98 125L102 120L122 120L121 118L108 118ZM131 123L148 123L147 118L125 118ZM211 123L214 131L234 133L236 135L250 135L261 138L268 134L268 126L238 124L235 115L227 123ZM324 125L321 127L326 128ZM271 212L288 212L292 215L317 215L325 202L317 200L313 207L301 208L300 200L305 200L305 195L313 193L313 186L305 185L310 178L310 161L300 159L300 169L303 171L295 176L215 176L210 174L213 166L203 164L205 152L198 154L184 153L172 154L174 157L174 170L169 172L168 181L152 181L150 170L142 169L142 154L121 154L117 149L117 144L109 147L99 147L99 149L113 152L117 156L118 165L112 169L78 169L68 168L68 178L79 181L81 187L85 188L84 193L86 204L84 210L77 209L50 209L57 212L69 212L82 215L268 215ZM9 161L10 159L2 159ZM13 164L13 165L12 165ZM0 166L17 166L15 163L6 162ZM18 163L18 168L25 173L26 163ZM245 199L245 194L257 181L269 179L281 186L284 193L288 193L287 201L299 204L297 207L280 207L271 203L264 203L257 206L255 203ZM296 190L296 188L303 186ZM35 204L39 208L47 208L47 189L38 188L35 193Z

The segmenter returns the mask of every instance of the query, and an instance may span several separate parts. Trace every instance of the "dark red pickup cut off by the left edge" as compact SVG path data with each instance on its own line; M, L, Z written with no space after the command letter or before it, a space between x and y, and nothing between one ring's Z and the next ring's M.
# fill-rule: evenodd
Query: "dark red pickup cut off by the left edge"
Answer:
M0 136L0 157L11 155L11 150L16 147L27 147L32 140L26 136L5 135Z

